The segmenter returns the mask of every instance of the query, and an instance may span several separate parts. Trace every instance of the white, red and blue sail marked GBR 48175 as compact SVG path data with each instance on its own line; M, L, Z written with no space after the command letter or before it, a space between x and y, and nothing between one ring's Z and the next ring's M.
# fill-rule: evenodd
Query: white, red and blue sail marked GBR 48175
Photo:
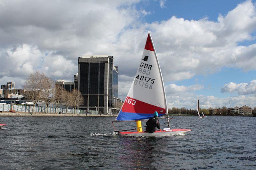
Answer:
M139 68L116 120L147 119L155 111L164 115L167 105L161 70L148 34Z

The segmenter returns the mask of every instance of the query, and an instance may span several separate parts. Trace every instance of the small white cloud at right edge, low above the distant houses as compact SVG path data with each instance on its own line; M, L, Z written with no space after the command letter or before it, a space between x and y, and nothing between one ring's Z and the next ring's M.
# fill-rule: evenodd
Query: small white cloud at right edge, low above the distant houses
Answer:
M221 88L221 92L237 92L238 94L255 94L256 93L256 80L252 80L250 83L233 83L225 84Z

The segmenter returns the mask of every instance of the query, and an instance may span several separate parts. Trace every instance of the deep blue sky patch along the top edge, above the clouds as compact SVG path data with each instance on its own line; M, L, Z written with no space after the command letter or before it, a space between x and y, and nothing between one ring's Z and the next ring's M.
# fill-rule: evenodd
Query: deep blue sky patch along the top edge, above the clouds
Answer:
M136 8L151 11L152 15L145 17L149 23L167 20L172 16L188 20L208 17L209 20L217 21L219 14L226 15L242 2L244 0L169 0L164 1L164 7L161 8L159 1L146 0L137 4Z

